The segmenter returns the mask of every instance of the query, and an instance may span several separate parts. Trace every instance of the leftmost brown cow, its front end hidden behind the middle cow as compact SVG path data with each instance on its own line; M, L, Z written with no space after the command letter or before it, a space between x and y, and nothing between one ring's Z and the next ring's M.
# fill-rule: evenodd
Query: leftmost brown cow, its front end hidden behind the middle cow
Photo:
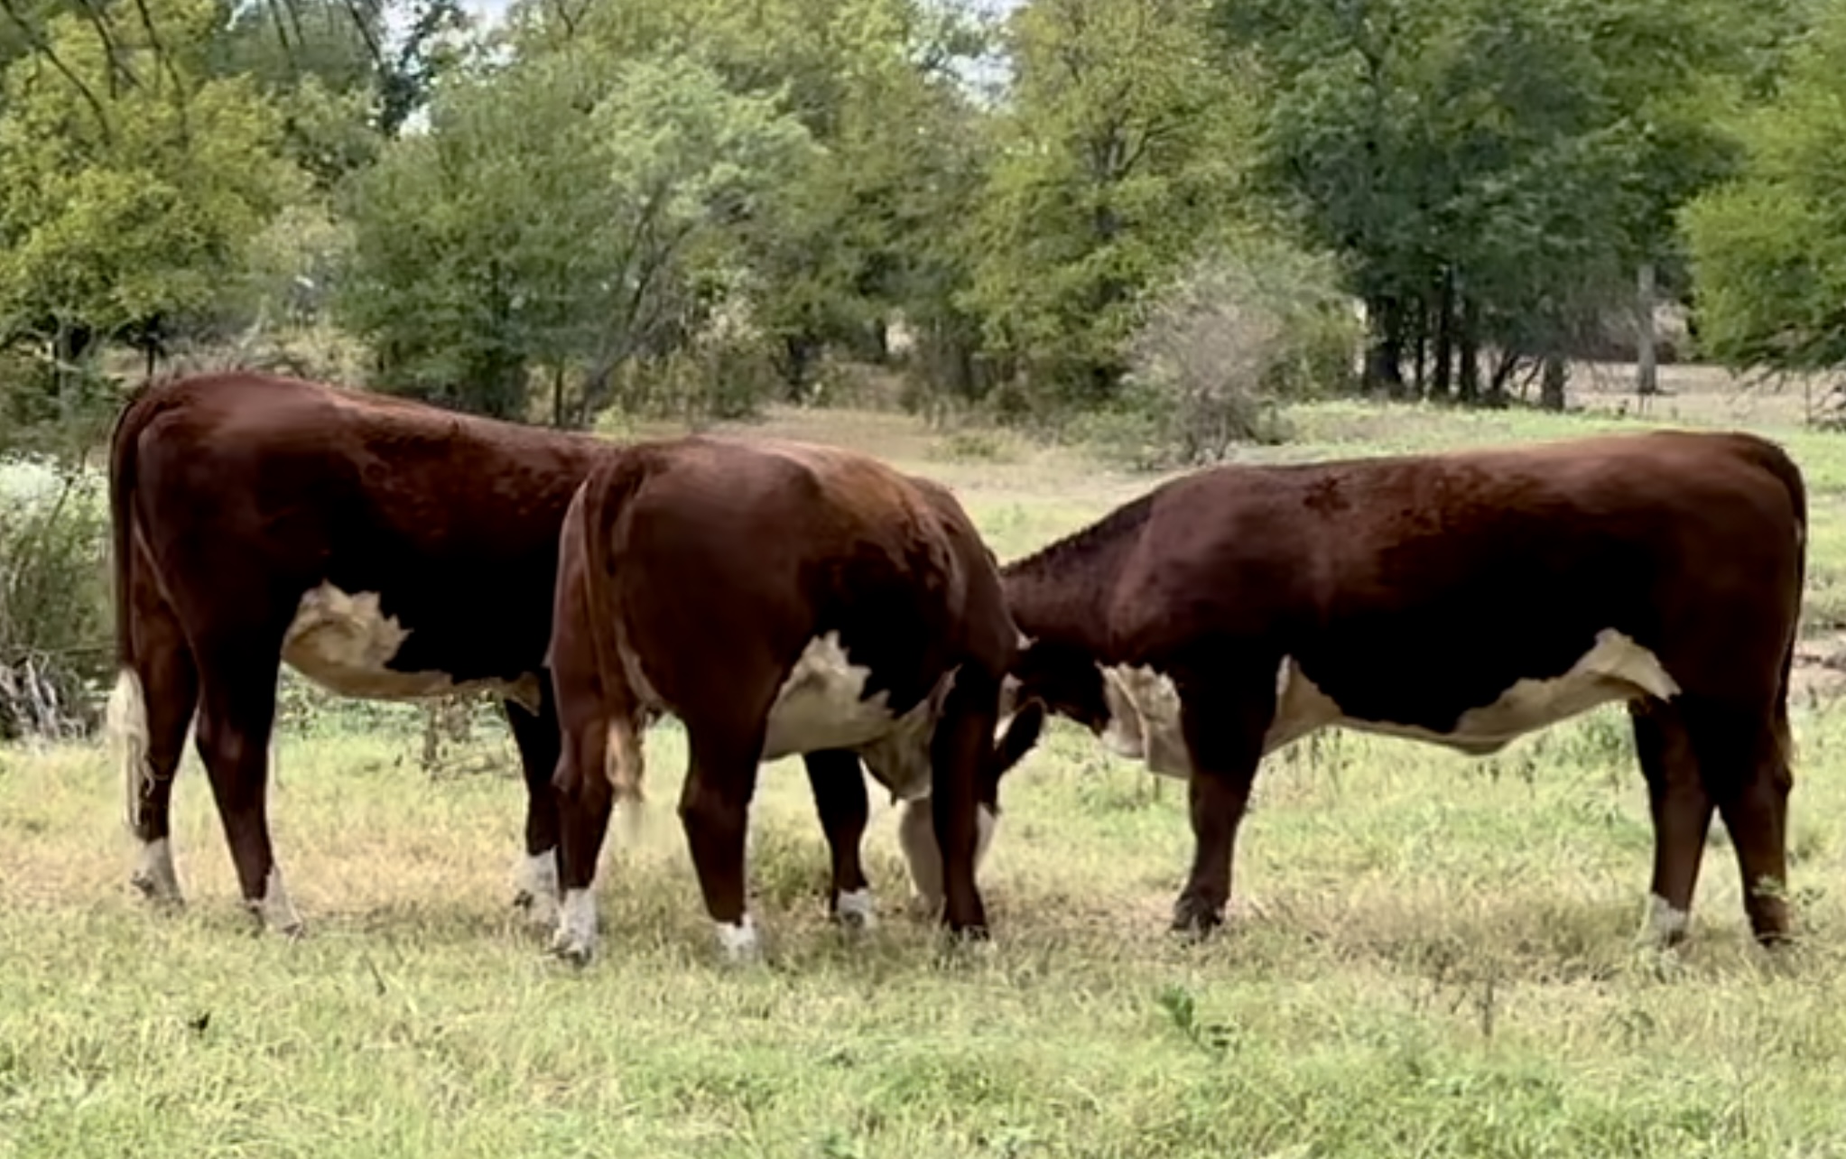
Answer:
M556 914L557 714L543 674L557 530L607 443L295 378L153 382L111 447L116 651L135 884L179 901L174 771L198 747L246 904L301 919L270 849L281 661L345 694L487 688L526 771L519 901Z

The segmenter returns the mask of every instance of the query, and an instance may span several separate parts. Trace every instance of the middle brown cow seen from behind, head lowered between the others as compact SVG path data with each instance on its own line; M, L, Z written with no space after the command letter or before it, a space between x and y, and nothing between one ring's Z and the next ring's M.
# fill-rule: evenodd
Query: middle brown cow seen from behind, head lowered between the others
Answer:
M864 759L906 801L899 838L917 893L951 930L984 932L975 866L997 781L1037 738L1043 707L997 738L1017 631L993 556L947 489L821 447L631 447L572 500L552 624L559 956L593 954L596 858L617 799L639 803L641 736L661 712L687 729L679 818L733 960L757 954L744 901L757 766L794 753L833 853L836 917L871 919Z

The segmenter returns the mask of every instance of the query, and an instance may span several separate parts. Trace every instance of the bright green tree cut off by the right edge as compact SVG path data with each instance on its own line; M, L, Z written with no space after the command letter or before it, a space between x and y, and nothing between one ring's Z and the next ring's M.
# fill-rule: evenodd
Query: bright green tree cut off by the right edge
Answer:
M1739 369L1846 365L1846 6L1739 125L1743 173L1684 214L1700 345Z

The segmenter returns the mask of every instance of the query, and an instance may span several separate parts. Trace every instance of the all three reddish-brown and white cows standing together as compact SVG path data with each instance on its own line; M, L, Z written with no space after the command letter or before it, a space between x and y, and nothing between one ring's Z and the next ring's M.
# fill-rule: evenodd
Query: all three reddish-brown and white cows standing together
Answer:
M869 770L903 801L916 895L984 936L977 867L1045 712L1187 781L1174 926L1205 932L1265 753L1327 725L1492 753L1624 701L1654 821L1645 932L1684 938L1713 814L1756 938L1792 932L1807 513L1754 436L1217 467L1004 567L945 487L862 454L618 445L264 375L144 384L109 476L109 729L157 902L181 899L170 797L194 729L246 904L301 930L266 803L286 661L343 696L504 699L515 902L576 962L661 714L687 729L679 818L729 958L759 952L757 766L796 753L838 921L875 914Z

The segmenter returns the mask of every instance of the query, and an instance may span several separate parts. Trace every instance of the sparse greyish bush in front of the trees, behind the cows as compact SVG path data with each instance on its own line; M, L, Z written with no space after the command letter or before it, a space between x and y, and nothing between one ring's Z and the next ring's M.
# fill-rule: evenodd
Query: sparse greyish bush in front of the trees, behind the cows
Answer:
M1283 406L1342 389L1359 319L1329 258L1287 242L1211 253L1148 305L1091 437L1137 467L1193 467L1289 436Z

